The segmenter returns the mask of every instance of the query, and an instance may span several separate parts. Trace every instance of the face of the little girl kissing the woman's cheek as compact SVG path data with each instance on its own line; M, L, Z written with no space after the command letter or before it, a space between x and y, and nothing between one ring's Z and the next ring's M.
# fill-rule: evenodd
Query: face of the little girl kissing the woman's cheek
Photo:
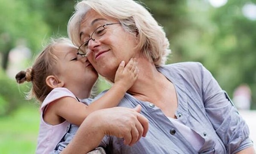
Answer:
M58 78L64 81L64 87L71 91L78 88L87 88L90 91L98 78L98 73L87 57L77 55L76 48L64 44L58 45L55 50L58 57Z

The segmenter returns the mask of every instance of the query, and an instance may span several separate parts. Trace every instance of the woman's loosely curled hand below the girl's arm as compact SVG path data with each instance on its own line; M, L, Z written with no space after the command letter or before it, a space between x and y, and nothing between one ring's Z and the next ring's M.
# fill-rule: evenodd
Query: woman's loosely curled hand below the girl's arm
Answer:
M140 114L141 106L134 109L114 107L99 110L99 118L104 129L103 133L124 138L124 144L133 145L140 137L145 137L148 132L148 119Z

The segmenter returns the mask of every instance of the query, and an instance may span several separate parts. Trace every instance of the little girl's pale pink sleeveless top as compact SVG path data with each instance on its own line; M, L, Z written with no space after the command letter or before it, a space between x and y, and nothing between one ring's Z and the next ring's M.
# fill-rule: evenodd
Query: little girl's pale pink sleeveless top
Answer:
M36 154L49 154L50 151L54 150L55 146L68 130L70 123L67 120L53 126L46 123L43 119L43 112L47 105L62 97L72 97L76 99L76 96L67 88L55 88L47 95L41 105L41 122Z

